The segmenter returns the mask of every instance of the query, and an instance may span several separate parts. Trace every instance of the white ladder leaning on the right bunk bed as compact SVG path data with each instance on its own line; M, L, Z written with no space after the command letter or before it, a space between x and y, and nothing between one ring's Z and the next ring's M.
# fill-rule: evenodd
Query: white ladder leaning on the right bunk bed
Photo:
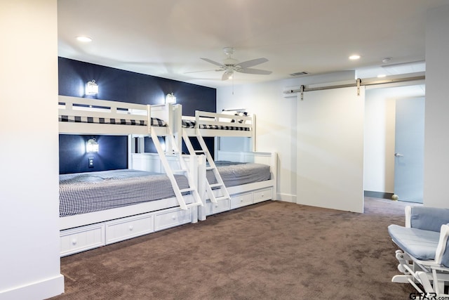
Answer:
M217 166L215 166L215 162L213 162L212 155L210 155L208 146L206 145L206 142L204 142L203 136L201 136L200 131L196 129L196 138L198 138L199 144L201 145L201 150L194 150L192 142L190 141L190 137L187 135L184 129L182 129L182 138L185 141L190 154L195 153L206 155L206 162L209 164L206 167L206 171L212 170L215 176L215 181L217 182L211 184L206 178L206 192L208 193L210 202L217 203L220 200L230 200L231 196L229 195L225 183L222 180L222 176L220 176L220 173L218 172ZM213 193L214 188L220 190L220 193L218 194L219 196L217 197L215 197L215 194Z

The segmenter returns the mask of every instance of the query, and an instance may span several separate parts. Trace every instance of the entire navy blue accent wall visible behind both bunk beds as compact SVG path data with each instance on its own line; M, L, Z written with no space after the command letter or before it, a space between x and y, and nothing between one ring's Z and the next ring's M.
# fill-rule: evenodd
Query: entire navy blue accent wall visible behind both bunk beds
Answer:
M139 104L161 104L165 102L167 93L174 93L176 102L182 105L183 115L194 116L195 110L216 111L216 90L206 86L84 63L68 58L58 58L58 74L59 94L62 96L98 98ZM95 97L86 96L84 94L86 82L93 79L98 84L98 95ZM96 156L95 167L88 168L87 157L89 156L85 152L79 151L81 139L86 138L86 136L76 138L76 136L71 135L60 135L60 174L126 169L128 167L128 144L122 141L122 139L126 140L126 137L97 137L98 141L107 140L108 142L100 145L100 152L94 155ZM114 141L114 139L117 141ZM213 153L214 139L204 139L210 152ZM123 155L123 152L126 155ZM145 152L156 152L151 139L145 139Z

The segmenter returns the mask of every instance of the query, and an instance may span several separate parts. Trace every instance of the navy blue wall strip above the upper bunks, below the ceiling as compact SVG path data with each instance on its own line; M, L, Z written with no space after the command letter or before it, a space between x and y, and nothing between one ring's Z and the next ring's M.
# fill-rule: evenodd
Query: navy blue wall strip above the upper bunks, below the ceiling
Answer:
M167 93L174 93L182 105L183 115L194 116L195 110L215 112L216 90L161 77L139 74L113 67L83 63L67 58L58 59L59 94L85 97L84 86L92 79L98 84L98 95L103 100L140 104L165 103Z

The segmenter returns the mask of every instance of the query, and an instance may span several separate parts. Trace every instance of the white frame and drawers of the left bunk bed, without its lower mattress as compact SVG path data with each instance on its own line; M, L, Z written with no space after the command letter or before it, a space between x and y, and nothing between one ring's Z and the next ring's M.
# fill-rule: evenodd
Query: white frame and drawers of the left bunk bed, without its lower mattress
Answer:
M141 166L141 168L136 169L160 173L165 171L167 175L172 174L172 177L175 172L185 173L189 178L189 185L191 187L194 186L194 188L189 188L189 190L180 190L175 184L173 190L177 197L107 209L105 211L95 211L88 214L60 217L61 256L127 240L157 230L197 222L198 209L196 207L202 205L201 198L196 190L198 184L196 173L198 168L196 166L197 159L192 157L188 159L188 162L185 162L184 157L181 157L180 153L172 154L167 159L157 139L157 136L173 138L170 128L170 124L173 124L173 119L170 119L173 117L171 111L173 107L171 105L139 105L135 103L59 96L59 106L60 116L93 117L94 113L95 117L145 121L147 126L59 122L59 131L67 134L126 135L129 137L129 150L133 148L133 143L131 143L133 136L152 136L159 153L157 155L148 155L152 157L154 162L157 162L154 165L159 167L152 169L152 166ZM168 126L151 126L151 117L165 120ZM133 153L130 153L128 157L132 160L134 157ZM134 166L135 164L131 161L128 165ZM173 170L174 166L180 169ZM190 174L187 170L193 171L193 174ZM173 181L175 181L174 178ZM188 193L187 195L185 195L186 192Z

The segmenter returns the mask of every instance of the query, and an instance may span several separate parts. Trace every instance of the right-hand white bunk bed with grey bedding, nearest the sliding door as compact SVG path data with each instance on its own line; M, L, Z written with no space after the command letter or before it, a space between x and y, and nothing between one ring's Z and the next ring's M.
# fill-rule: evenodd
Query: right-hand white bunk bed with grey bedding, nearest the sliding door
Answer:
M199 163L199 191L203 191L205 205L199 207L199 220L222 211L244 207L276 197L275 152L215 151L215 160L203 137L250 138L255 149L255 115L246 112L201 112L195 117L182 116L177 111L175 124L181 126L182 140L191 154L203 154L206 164ZM198 138L201 150L195 150L190 138ZM178 141L179 142L179 138ZM226 176L229 171L229 176ZM243 174L241 173L243 171ZM236 176L239 176L237 178ZM255 176L249 176L253 174ZM246 181L251 178L250 181Z

